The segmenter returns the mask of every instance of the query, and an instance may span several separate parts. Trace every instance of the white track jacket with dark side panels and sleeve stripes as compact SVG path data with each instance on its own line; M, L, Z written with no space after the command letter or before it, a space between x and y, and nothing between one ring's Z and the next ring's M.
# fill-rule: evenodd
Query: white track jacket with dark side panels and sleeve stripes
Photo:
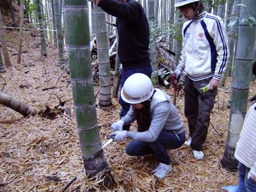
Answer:
M227 33L220 17L204 12L182 27L182 51L177 69L193 81L221 79L229 57Z

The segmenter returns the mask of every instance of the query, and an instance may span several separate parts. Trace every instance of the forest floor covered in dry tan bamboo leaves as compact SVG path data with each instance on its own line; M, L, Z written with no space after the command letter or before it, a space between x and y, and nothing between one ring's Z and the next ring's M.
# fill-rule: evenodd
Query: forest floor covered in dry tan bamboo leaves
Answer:
M88 179L84 172L76 118L72 104L70 76L58 66L58 49L48 45L47 57L40 56L40 39L24 31L22 63L17 65L17 36L6 31L13 67L0 74L1 92L22 100L38 110L45 105L54 108L65 101L65 111L54 120L40 116L24 118L5 106L0 106L0 191L220 191L221 186L236 184L237 172L221 168L227 140L229 109L225 103L230 95L230 79L220 88L211 113L211 125L204 145L205 158L196 161L189 147L182 146L170 152L173 170L163 180L152 175L157 166L153 156L131 157L125 154L129 140L113 142L104 148L104 154L116 181L115 189L102 189L100 176ZM67 52L65 53L67 54ZM23 86L21 86L23 85ZM160 87L172 95L173 89ZM95 93L97 86L95 86ZM255 83L250 93L255 94ZM97 102L97 100L96 100ZM224 106L224 107L223 107ZM177 108L186 126L184 97L180 92ZM113 107L97 107L101 141L111 131L109 124L118 120L120 106L113 99ZM135 127L132 127L135 129Z

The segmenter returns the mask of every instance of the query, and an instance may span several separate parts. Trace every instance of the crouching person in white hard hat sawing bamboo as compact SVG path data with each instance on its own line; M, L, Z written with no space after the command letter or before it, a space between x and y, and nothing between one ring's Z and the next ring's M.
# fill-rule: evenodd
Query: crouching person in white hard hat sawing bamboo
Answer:
M167 93L154 89L150 78L140 73L127 78L121 97L131 107L125 116L111 125L111 136L115 136L115 141L132 139L125 148L130 156L154 154L159 164L152 173L163 179L172 171L168 150L179 148L186 138L177 108L170 103ZM138 131L122 130L123 125L135 120Z

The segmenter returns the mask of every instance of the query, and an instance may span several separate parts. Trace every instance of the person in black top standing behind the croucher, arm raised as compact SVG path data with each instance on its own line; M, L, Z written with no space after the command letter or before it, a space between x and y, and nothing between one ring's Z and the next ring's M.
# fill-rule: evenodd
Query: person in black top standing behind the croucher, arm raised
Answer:
M118 29L118 57L122 63L120 88L125 80L135 73L151 77L149 27L147 16L140 3L134 0L92 0L106 13L116 17ZM125 116L130 104L119 97L122 106L120 117ZM129 130L130 125L124 126Z

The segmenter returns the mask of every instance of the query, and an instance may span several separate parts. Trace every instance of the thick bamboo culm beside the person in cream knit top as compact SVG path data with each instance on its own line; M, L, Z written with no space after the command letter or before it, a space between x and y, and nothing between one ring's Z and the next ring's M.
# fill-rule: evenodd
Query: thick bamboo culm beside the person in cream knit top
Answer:
M234 154L248 107L251 84L251 76L248 74L252 74L253 48L256 39L256 6L254 0L242 1L240 18L236 60L232 75L228 136L223 159L221 159L221 165L228 170L237 170L238 161Z

